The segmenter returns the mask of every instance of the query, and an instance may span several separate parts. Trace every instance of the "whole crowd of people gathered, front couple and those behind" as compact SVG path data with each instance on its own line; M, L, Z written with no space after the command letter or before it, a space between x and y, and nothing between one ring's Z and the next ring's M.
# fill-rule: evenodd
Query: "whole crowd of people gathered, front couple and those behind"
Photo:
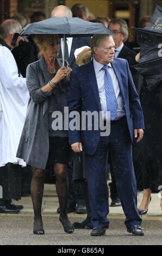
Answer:
M12 199L20 199L27 186L33 233L45 234L42 197L51 172L64 231L85 228L92 229L92 236L104 235L111 175L110 206L122 206L127 231L142 236L140 215L147 214L151 192L159 192L162 184L161 84L150 92L132 67L139 62L140 44L138 39L128 42L126 21L95 17L83 4L71 9L58 5L51 16L100 22L113 35L68 37L63 50L63 39L54 34L18 36L14 42L15 33L27 23L46 19L40 11L30 19L16 14L0 25L0 213L20 212L23 206ZM143 17L139 27L151 19ZM110 111L110 135L101 136L93 123L91 131L67 131L64 122L63 129L54 130L53 113L60 111L64 117L64 107L69 113ZM144 190L139 208L137 188ZM159 205L162 210L162 199ZM69 212L87 217L72 224Z

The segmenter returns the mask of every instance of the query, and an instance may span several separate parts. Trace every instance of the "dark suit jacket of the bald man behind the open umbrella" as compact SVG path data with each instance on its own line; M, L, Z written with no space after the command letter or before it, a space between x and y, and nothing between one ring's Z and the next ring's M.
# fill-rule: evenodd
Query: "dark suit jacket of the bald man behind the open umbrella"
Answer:
M70 57L67 60L68 64L70 65L71 69L75 69L78 67L76 64L76 58L74 56L74 51L77 48L80 48L82 46L89 46L90 45L90 38L89 37L78 37L72 39L72 45L71 45L71 51L70 51ZM59 58L63 58L61 47L59 51Z

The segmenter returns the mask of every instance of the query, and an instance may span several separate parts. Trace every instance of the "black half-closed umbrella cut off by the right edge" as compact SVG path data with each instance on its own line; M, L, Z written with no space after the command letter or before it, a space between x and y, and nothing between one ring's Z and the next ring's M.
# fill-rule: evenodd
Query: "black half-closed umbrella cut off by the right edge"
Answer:
M140 42L140 63L135 68L146 80L149 90L162 81L162 8L157 5L151 23L142 28L134 28Z

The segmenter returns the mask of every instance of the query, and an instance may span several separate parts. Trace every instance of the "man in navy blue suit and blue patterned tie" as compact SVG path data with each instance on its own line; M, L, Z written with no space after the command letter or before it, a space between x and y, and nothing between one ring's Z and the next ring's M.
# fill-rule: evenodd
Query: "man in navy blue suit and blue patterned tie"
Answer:
M127 231L133 235L144 235L140 227L132 160L133 136L138 143L144 134L139 96L127 60L114 59L115 43L111 35L94 35L91 49L94 59L71 72L68 104L70 115L72 111L110 112L110 134L107 136L103 136L101 129L96 129L95 118L91 130L86 126L86 129L70 128L68 131L73 151L85 151L91 222L94 226L91 235L104 235L109 225L105 173L108 150L112 156L117 191L126 215L124 223ZM106 115L103 114L102 118L106 124Z

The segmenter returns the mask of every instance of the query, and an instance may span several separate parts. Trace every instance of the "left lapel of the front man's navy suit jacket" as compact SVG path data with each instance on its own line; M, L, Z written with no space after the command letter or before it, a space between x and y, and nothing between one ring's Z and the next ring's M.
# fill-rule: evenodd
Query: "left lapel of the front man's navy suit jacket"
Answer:
M94 69L94 63L93 60L89 63L88 66L88 76L89 76L89 81L92 87L92 91L94 93L97 106L99 108L99 111L101 111L101 102L99 98L99 92L98 92L98 86L97 86L97 80L96 80L96 74L95 74L95 69Z

